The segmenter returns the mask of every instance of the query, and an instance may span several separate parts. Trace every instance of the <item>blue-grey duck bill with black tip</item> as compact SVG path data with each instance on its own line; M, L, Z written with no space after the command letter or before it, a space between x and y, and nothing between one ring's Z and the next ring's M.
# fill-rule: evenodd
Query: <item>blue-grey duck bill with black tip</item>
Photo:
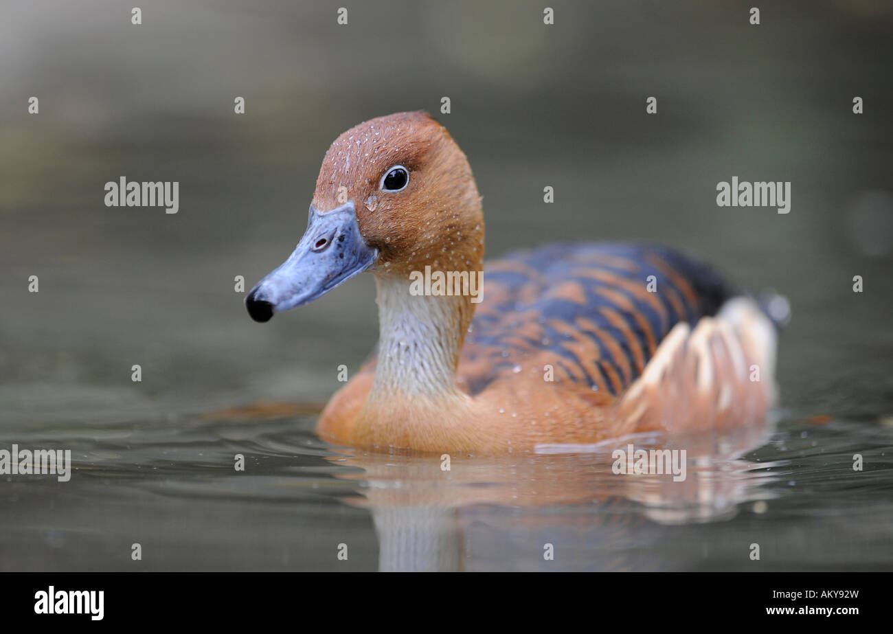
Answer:
M311 204L307 230L294 253L246 296L248 314L270 321L273 313L308 304L371 267L378 254L363 241L353 202L326 213Z

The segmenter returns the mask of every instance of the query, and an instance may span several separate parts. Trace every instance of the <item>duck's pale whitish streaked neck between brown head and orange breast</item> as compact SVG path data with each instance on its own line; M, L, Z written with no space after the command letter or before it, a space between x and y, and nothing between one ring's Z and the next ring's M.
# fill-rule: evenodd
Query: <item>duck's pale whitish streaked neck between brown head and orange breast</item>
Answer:
M370 401L460 395L455 371L472 321L471 296L418 295L402 275L377 275L379 355Z

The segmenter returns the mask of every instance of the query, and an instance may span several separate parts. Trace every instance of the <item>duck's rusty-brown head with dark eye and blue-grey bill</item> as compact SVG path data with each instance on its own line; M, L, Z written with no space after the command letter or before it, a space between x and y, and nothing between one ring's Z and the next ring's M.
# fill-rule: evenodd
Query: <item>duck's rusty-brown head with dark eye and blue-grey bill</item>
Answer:
M348 129L322 161L304 237L246 297L255 321L312 302L355 274L408 279L428 265L480 271L483 215L471 167L427 113Z

